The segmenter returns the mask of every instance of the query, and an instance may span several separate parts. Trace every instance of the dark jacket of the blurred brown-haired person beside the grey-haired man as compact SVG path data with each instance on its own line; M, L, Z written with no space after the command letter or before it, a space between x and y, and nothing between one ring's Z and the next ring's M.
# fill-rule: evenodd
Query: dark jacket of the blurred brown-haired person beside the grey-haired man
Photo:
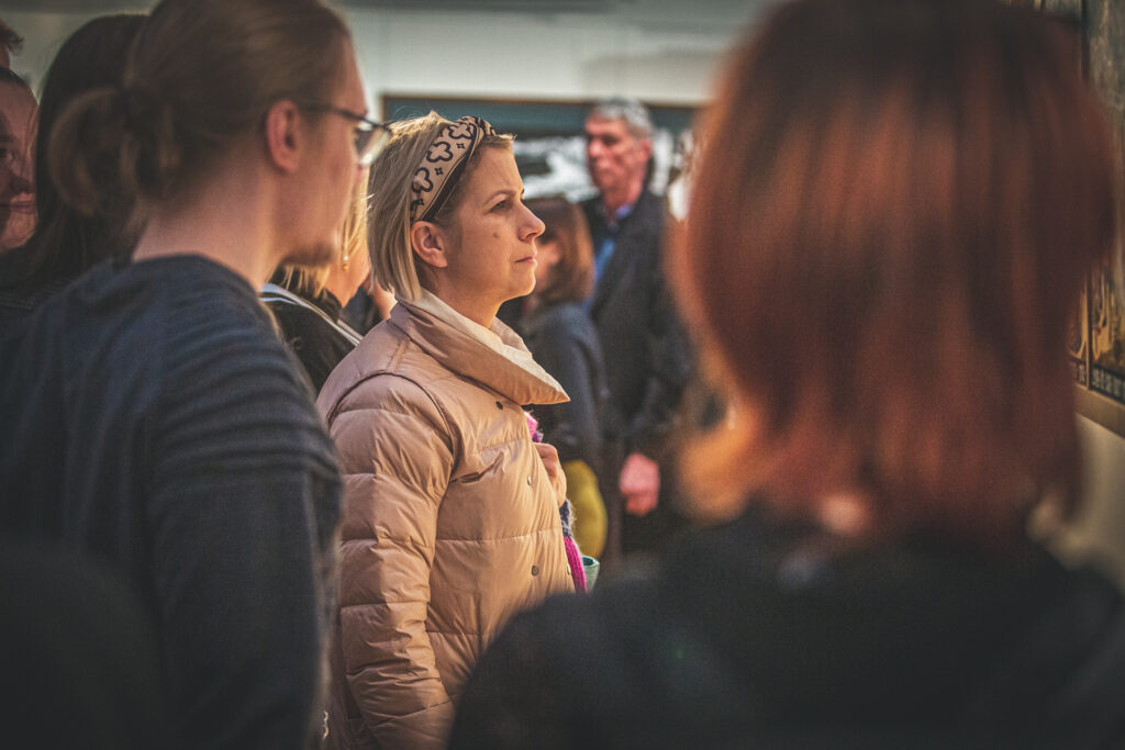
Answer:
M585 461L600 475L609 388L594 324L578 302L547 302L521 319L520 333L536 361L570 397L565 404L534 407L543 440L562 462Z

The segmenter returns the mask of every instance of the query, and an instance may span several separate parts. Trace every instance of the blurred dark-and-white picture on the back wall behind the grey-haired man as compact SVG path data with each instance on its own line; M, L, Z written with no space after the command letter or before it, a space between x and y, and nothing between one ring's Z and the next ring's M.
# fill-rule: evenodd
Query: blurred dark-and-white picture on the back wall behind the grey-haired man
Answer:
M448 119L476 115L501 133L516 136L515 161L529 198L562 195L580 200L594 193L586 172L583 125L592 100L482 99L464 97L384 94L385 121L425 115L431 109ZM695 109L649 103L652 125L652 171L649 188L660 195L675 179L683 144L690 139Z

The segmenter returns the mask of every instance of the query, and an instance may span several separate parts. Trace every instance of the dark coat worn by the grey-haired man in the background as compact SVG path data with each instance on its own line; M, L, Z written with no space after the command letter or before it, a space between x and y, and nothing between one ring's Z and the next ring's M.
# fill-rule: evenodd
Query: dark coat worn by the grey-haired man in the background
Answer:
M601 198L582 204L591 235L609 231ZM659 458L691 371L691 353L662 264L668 222L664 201L647 190L616 231L613 255L591 300L605 354L614 423L626 453Z

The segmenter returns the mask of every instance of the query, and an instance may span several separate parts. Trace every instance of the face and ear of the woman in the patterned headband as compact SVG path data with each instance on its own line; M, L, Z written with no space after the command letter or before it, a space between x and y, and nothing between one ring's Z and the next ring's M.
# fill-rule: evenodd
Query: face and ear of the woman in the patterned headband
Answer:
M443 231L448 262L440 295L453 309L489 324L505 301L536 286L536 237L543 223L523 205L511 150L485 146L453 225Z

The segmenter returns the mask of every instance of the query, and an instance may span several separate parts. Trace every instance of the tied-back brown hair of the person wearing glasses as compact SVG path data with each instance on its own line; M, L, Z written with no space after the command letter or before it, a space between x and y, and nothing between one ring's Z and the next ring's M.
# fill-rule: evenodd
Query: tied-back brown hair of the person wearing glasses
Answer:
M322 98L350 39L320 0L163 0L129 56L125 84L72 102L51 135L63 199L97 209L120 184L138 208L174 201L280 99Z

